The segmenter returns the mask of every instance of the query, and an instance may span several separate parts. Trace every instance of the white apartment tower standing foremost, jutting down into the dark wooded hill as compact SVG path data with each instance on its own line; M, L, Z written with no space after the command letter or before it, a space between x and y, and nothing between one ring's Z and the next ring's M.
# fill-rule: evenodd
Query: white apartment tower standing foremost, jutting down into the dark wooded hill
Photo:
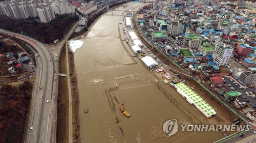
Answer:
M51 8L49 6L42 6L36 9L41 22L48 23L52 19L55 19L55 15L52 14Z

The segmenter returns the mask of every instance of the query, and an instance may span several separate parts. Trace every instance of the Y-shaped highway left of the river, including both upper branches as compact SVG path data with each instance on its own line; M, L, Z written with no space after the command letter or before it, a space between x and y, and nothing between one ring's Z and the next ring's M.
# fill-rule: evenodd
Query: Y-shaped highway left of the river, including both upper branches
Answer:
M1 33L5 33L25 41L34 48L32 51L35 53L35 62L37 65L35 73L37 78L32 91L24 142L56 142L59 73L58 61L63 45L73 34L77 25L78 23L75 23L67 36L56 46L41 43L22 34L0 29ZM55 60L57 60L57 62L55 62ZM56 78L56 80L54 80L54 78ZM40 85L42 86L41 90L39 89ZM41 95L42 98L40 98ZM49 100L49 103L47 100ZM72 142L72 120L70 121L71 130L69 133L69 140ZM32 131L31 127L33 127Z

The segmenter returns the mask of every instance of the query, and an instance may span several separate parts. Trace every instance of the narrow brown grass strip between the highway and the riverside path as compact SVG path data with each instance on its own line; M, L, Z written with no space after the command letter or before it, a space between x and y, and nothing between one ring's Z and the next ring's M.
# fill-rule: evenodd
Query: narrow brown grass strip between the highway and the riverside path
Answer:
M66 49L66 48L63 48ZM66 51L59 58L59 72L67 73ZM57 142L69 142L69 94L67 77L59 77Z

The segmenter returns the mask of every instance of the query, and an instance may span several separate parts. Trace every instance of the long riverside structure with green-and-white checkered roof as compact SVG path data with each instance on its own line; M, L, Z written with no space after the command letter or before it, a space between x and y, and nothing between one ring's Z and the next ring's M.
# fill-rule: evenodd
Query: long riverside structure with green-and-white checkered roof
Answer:
M216 115L216 111L208 103L206 103L199 95L187 87L183 82L174 86L190 104L194 104L207 118Z

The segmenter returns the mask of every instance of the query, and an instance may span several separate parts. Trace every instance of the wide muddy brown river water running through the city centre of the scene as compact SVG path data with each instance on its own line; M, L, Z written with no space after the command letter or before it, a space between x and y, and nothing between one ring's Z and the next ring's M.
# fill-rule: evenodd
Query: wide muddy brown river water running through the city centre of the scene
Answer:
M129 10L141 5L130 2L115 9ZM163 82L154 84L157 78L139 59L135 58L138 64L133 64L119 39L118 22L122 14L109 12L101 16L74 54L82 142L213 142L222 138L220 132L181 129L165 137L162 125L166 120L207 124L207 119L174 88ZM172 96L173 102L167 95ZM110 106L113 103L115 106ZM120 112L121 103L130 118ZM84 113L86 109L89 113Z

